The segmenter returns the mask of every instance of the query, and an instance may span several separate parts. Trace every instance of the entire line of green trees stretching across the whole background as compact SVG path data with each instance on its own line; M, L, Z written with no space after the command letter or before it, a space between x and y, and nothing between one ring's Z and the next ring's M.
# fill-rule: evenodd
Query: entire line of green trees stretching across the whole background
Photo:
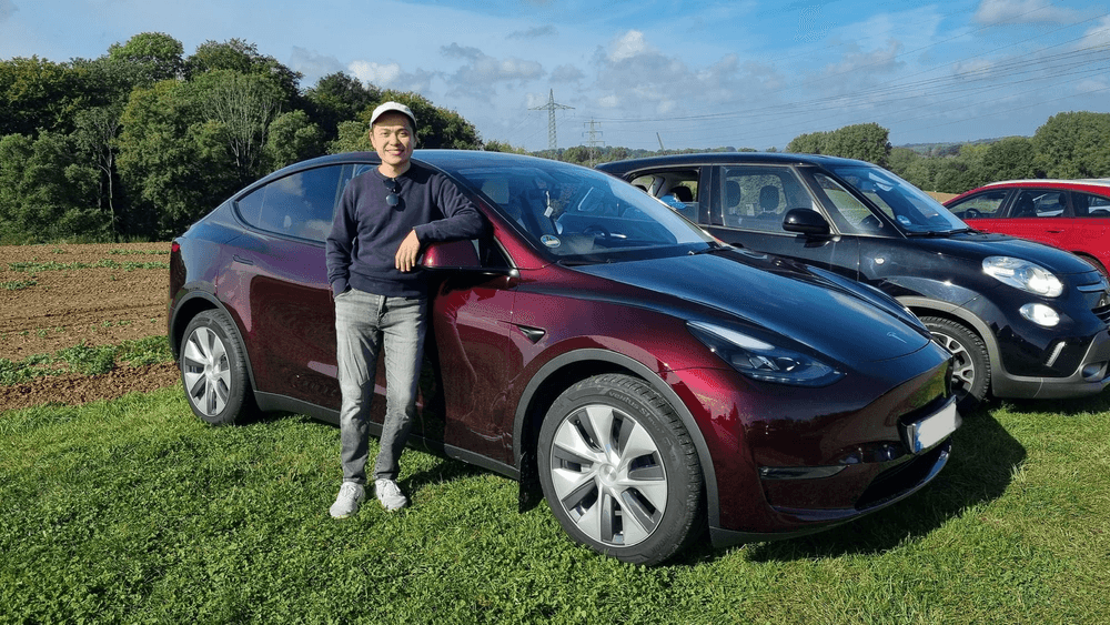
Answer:
M185 56L180 41L154 32L97 59L0 60L0 243L168 240L276 169L370 150L370 113L386 100L413 109L422 148L524 152L483 142L472 123L420 94L343 72L307 89L302 78L243 40L205 41ZM786 151L870 161L951 193L1007 178L1110 177L1108 113L1060 113L1032 138L927 152L892 148L888 135L875 123L849 125L801 134ZM659 153L675 152L533 152L587 165Z

